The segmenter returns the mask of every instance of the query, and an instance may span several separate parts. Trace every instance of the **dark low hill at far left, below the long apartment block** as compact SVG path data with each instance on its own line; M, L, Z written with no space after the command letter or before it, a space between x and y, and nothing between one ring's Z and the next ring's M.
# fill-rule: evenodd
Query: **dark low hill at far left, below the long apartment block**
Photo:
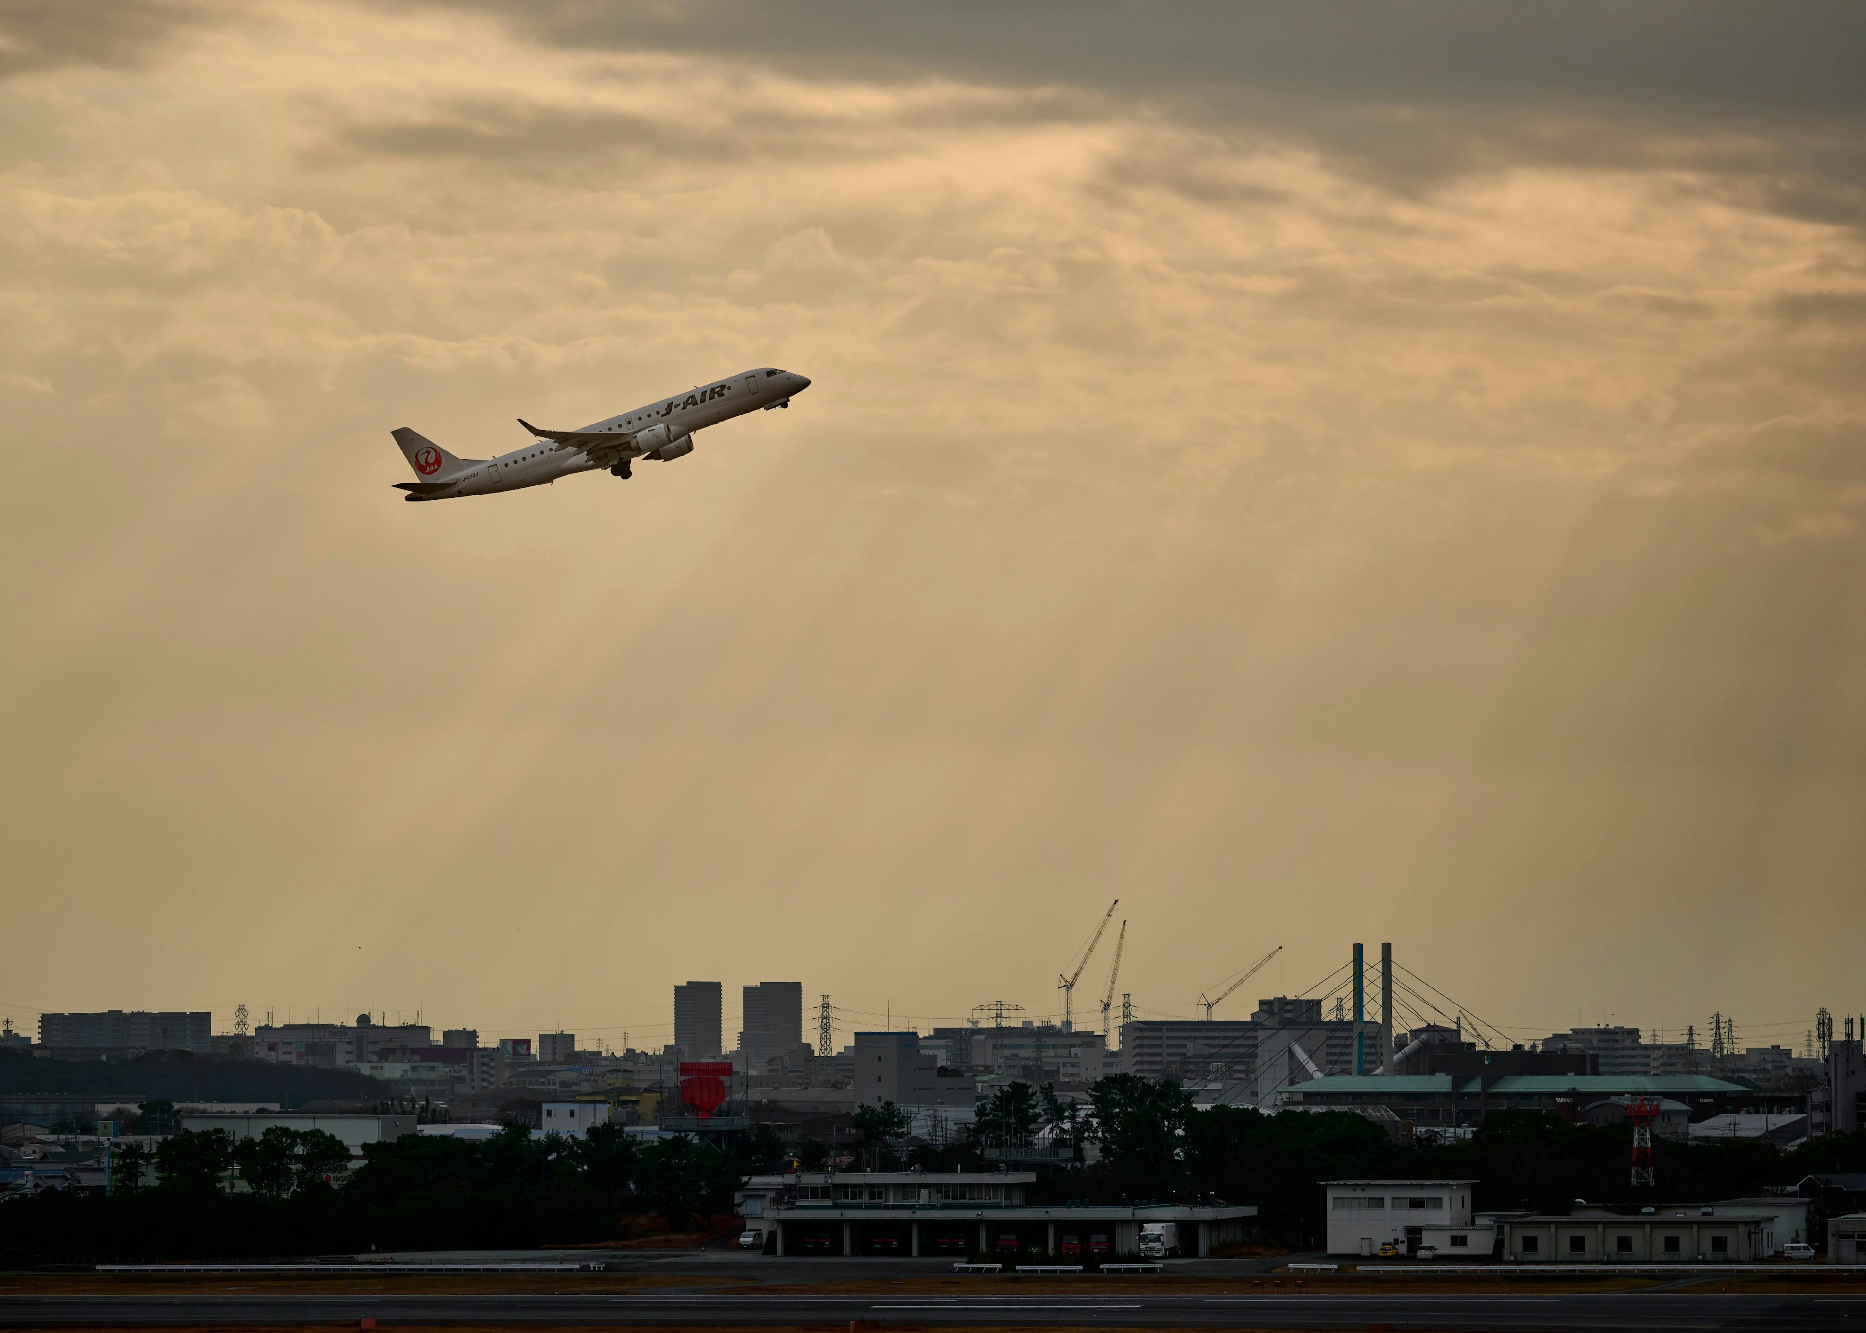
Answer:
M192 1051L151 1051L134 1060L41 1060L0 1051L0 1096L125 1096L170 1101L379 1101L381 1079L355 1070L310 1070Z

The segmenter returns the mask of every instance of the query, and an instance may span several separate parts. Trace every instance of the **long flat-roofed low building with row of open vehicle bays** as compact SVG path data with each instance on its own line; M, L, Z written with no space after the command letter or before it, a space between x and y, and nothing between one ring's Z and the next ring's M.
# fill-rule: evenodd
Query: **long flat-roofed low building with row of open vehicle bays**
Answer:
M1187 1255L1245 1238L1245 1204L1028 1204L1036 1172L797 1172L752 1176L733 1195L771 1255L1135 1255L1146 1223L1177 1223Z

